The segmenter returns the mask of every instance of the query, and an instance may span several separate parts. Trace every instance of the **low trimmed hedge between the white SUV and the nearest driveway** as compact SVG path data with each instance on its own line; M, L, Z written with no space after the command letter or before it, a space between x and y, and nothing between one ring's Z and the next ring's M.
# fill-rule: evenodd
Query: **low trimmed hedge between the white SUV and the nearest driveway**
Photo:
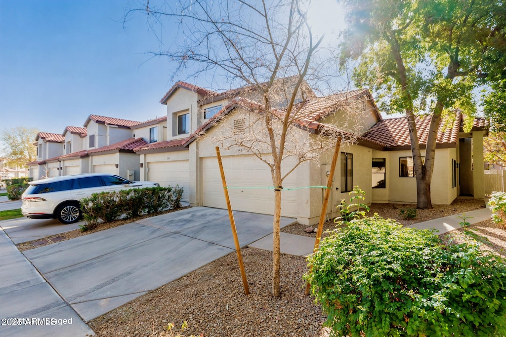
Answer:
M81 225L81 229L86 231L97 228L101 222L131 219L142 214L180 208L182 196L183 188L179 185L94 193L90 198L80 200L82 215L86 221L85 225Z

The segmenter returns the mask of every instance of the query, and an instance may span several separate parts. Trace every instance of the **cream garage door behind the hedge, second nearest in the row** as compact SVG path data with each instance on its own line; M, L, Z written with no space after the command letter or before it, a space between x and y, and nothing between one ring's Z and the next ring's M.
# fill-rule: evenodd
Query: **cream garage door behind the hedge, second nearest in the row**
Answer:
M190 166L187 160L148 163L148 179L160 186L183 187L181 200L190 201Z

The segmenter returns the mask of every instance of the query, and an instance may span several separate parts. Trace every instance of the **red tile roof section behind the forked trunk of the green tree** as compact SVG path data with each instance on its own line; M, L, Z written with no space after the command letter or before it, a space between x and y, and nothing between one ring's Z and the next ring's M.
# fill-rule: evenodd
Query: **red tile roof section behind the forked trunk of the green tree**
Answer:
M456 112L453 117L449 118L450 119L443 118L439 123L437 137L437 145L439 146L456 145L458 141L458 132L460 131L462 114L460 112ZM453 119L453 121L451 119ZM431 120L432 115L415 117L418 138L420 144L422 145L427 145ZM362 134L361 138L382 146L385 149L409 148L411 146L406 117L391 118L380 121Z

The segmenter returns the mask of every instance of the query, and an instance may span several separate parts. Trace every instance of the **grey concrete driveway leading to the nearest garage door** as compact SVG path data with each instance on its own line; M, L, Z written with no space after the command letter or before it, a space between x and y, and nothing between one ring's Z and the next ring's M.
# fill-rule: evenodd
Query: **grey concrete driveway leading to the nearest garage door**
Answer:
M272 232L272 215L234 217L241 247ZM234 250L227 210L194 207L23 254L89 321Z

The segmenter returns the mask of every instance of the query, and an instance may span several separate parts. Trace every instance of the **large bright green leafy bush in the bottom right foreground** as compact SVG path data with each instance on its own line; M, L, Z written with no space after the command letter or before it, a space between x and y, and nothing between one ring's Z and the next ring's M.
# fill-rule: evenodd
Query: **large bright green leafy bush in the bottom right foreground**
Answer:
M333 336L502 336L506 265L377 215L322 239L304 277Z

